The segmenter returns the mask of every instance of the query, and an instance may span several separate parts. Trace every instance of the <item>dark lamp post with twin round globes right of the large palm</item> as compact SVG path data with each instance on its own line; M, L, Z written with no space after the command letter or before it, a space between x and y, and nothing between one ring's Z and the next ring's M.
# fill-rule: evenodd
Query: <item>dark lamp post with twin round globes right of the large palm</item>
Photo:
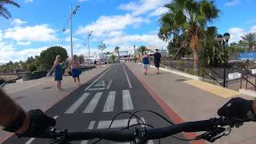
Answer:
M230 34L225 33L223 34L218 34L216 37L216 40L219 42L220 46L223 46L223 52L224 52L224 74L223 74L223 87L226 87L226 45L229 42L230 39Z

